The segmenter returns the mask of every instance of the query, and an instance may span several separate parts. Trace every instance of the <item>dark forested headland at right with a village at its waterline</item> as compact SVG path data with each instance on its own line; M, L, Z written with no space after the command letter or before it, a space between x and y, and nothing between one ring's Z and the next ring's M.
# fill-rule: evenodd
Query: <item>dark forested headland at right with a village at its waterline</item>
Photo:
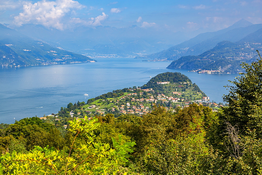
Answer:
M220 73L243 72L242 62L251 63L258 58L256 50L261 49L261 43L236 44L222 41L216 47L198 55L183 56L173 61L169 69L219 70Z

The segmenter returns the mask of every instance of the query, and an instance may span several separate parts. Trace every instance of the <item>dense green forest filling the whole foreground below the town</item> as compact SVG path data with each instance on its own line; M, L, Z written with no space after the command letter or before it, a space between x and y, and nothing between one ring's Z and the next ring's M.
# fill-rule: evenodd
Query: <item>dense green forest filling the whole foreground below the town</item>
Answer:
M219 112L155 106L142 117L72 118L64 133L37 117L2 124L0 173L261 174L261 57L242 66Z

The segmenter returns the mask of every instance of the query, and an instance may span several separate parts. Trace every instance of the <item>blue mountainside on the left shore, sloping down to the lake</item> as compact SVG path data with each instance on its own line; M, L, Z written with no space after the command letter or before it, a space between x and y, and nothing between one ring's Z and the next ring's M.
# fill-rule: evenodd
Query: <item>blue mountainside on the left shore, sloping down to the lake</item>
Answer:
M94 59L54 48L0 24L0 66L95 62Z

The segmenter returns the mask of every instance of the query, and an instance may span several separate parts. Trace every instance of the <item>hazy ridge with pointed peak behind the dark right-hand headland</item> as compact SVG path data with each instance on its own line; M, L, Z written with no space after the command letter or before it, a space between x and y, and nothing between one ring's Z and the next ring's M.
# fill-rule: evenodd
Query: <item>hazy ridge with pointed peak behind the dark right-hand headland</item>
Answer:
M163 50L161 52L146 56L139 56L136 58L172 61L177 60L182 56L199 55L215 47L217 43L224 40L231 42L240 42L243 37L258 31L261 28L262 24L252 24L247 20L242 19L226 29L215 32L202 33L188 41L170 47L167 50ZM242 42L244 42L244 40L242 40Z

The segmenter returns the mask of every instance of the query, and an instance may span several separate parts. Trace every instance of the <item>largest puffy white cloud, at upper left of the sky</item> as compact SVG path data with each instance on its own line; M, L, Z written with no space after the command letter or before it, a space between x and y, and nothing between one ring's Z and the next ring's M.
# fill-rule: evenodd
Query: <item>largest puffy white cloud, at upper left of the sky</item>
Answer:
M72 9L82 9L83 5L73 0L28 2L23 5L23 12L14 17L13 24L21 26L27 23L42 24L63 30L63 17Z

